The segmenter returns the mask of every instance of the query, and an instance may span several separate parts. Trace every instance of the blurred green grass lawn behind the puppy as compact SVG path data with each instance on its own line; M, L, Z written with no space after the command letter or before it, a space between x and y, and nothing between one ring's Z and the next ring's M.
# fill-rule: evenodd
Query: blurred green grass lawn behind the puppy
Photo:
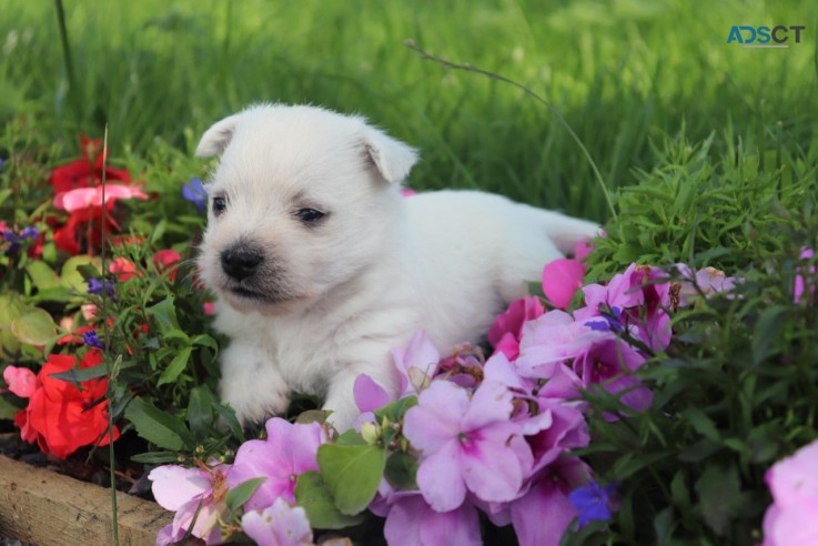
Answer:
M70 88L52 2L3 3L0 123L26 115L75 152L109 124L114 155L156 140L188 153L216 119L257 101L361 112L422 150L416 188L482 188L604 221L608 188L660 161L668 135L806 155L818 127L814 2L65 2ZM733 24L805 24L785 50L728 46ZM730 138L724 130L731 127ZM180 181L181 184L181 181Z

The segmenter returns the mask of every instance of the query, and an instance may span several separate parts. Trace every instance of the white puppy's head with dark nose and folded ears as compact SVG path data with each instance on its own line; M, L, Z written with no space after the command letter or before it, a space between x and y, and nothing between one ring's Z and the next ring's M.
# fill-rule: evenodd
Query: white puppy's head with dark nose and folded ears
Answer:
M310 304L377 260L417 160L362 118L286 105L215 123L196 155L221 155L203 280L236 310L265 314Z

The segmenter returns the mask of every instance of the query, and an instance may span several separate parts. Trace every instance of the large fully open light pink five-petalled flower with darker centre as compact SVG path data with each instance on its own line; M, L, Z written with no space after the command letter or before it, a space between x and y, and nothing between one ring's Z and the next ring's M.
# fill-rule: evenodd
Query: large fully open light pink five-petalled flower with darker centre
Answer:
M466 491L486 502L516 498L533 459L512 410L512 393L498 383L483 383L471 398L446 381L421 393L404 434L422 452L417 485L433 509L458 508Z

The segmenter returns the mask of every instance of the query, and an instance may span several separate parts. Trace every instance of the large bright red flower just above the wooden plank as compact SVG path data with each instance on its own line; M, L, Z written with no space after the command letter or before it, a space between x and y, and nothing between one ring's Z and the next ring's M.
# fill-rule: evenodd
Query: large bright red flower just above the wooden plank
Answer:
M108 402L104 400L108 380L90 380L81 384L51 377L68 372L77 363L74 356L51 355L37 376L34 390L26 410L14 416L20 435L37 442L44 453L65 458L85 445L108 445ZM102 363L100 351L89 351L80 368ZM102 402L100 402L102 401ZM113 439L120 436L114 427Z

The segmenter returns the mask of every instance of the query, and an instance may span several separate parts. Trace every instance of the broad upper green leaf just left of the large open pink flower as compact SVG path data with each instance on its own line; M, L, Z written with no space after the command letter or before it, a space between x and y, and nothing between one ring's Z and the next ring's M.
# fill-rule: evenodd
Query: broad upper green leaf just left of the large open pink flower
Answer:
M368 506L386 465L383 447L324 444L317 459L321 477L342 514L352 516Z

